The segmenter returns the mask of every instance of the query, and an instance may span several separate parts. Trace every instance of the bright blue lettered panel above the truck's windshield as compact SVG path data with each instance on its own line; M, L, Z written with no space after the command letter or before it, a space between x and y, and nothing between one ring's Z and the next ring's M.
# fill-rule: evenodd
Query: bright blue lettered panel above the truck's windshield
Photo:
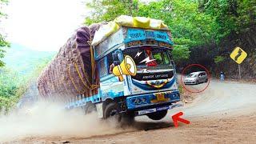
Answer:
M124 42L128 43L134 41L142 41L146 39L152 39L158 42L166 42L170 45L174 45L174 42L170 40L167 32L160 30L128 29Z

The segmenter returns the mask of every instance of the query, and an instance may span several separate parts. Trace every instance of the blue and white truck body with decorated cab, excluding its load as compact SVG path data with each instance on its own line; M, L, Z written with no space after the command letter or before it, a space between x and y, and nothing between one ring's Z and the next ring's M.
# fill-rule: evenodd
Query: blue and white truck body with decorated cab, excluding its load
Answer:
M168 110L182 106L173 46L169 30L121 26L93 47L98 94L79 94L66 104L66 109L82 107L86 114L96 110L99 118L118 120L138 115L153 120L164 118ZM119 70L120 75L114 70Z

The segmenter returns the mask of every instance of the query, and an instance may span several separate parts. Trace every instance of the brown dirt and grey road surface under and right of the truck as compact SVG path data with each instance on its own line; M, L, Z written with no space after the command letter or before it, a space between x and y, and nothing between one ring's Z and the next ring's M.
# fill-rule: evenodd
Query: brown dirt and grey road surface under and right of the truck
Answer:
M195 86L197 87L197 86ZM200 87L200 86L198 86ZM175 128L171 115L182 111L190 125ZM194 102L170 110L161 121L146 116L136 118L134 126L108 134L81 136L34 136L14 143L255 143L256 85L238 82L210 82ZM93 130L93 126L90 130ZM104 129L103 129L104 130ZM107 129L106 129L107 130Z

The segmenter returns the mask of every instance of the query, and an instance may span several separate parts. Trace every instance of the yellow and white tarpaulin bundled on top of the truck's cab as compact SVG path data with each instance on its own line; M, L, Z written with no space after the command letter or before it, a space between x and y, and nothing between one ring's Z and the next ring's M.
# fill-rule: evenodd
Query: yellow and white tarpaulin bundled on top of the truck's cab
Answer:
M168 26L162 20L145 17L130 17L121 15L113 22L102 26L95 34L92 45L97 46L104 41L110 34L114 34L120 26L137 27L142 29L168 30Z

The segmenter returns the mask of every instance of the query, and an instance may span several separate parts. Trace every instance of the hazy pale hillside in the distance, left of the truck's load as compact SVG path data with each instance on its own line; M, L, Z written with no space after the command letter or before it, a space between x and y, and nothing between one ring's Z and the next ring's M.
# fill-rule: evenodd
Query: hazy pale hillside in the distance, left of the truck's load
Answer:
M3 59L6 66L0 67L0 110L8 111L18 102L53 56L54 52L30 50L15 44L6 50Z

